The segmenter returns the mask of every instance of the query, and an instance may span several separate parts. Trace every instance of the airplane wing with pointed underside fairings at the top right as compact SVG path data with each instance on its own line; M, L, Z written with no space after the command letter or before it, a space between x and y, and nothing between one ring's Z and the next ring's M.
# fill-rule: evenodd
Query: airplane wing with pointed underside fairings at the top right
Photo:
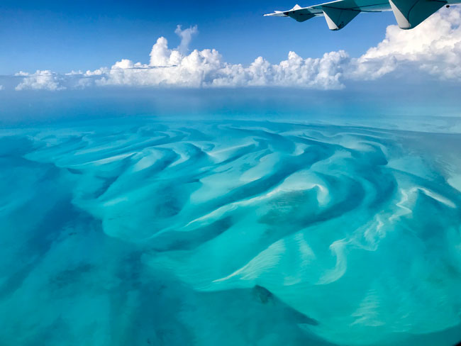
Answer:
M448 4L447 1L450 0L336 0L308 7L296 5L291 10L265 16L291 17L299 22L323 16L330 30L340 30L360 12L393 11L399 27L411 29Z

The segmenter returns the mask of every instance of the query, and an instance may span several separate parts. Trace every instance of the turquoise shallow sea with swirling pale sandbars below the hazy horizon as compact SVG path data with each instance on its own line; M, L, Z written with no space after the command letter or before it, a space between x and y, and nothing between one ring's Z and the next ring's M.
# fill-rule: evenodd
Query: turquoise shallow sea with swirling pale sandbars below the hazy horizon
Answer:
M454 345L460 123L4 128L0 345Z

